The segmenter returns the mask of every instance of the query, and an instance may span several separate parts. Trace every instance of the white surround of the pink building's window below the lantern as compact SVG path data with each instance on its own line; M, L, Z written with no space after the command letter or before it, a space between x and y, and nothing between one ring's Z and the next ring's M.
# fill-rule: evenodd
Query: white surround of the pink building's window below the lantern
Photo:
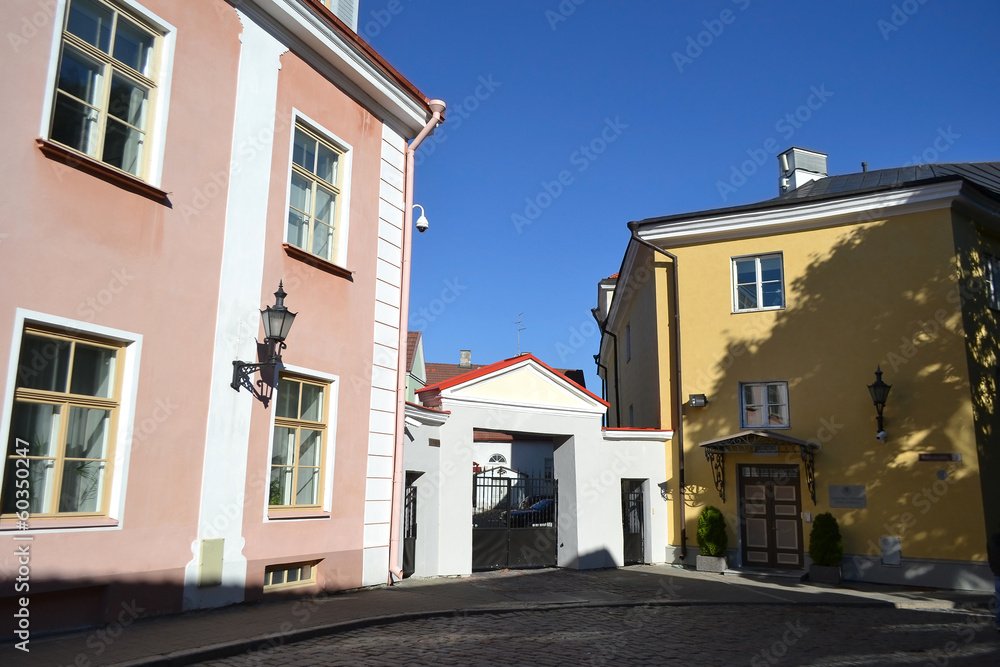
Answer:
M330 514L333 511L333 473L337 459L337 406L340 393L340 377L323 373L322 371L300 366L290 366L282 364L280 373L295 375L304 380L322 382L327 385L327 408L326 408L326 460L322 465L323 495L321 497L320 508L316 509L296 509L295 507L272 507L270 504L270 494L268 493L271 479L271 457L274 455L274 420L277 410L271 410L271 419L268 431L267 458L264 460L263 475L264 523L287 523L289 521L310 521L316 518L317 512ZM277 391L275 391L277 398Z

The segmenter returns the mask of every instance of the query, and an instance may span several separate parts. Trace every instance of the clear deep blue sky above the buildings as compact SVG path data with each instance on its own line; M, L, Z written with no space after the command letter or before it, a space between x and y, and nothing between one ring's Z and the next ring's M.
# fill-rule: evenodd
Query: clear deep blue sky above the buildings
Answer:
M429 361L521 351L600 394L590 309L630 220L831 174L1000 160L995 0L362 0L358 32L447 122L418 151L410 329Z

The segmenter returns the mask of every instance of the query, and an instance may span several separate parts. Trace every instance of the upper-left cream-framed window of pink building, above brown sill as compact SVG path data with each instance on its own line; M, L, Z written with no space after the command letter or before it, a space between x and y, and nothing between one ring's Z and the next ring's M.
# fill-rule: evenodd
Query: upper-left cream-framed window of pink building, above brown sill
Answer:
M162 35L104 0L70 0L49 139L146 178Z

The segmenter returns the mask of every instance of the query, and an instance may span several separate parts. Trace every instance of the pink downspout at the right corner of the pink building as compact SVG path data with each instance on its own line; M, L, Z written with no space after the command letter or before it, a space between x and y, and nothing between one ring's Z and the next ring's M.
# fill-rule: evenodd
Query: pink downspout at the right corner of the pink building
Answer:
M393 577L402 580L403 568L399 559L399 532L401 521L401 504L403 498L403 440L406 419L406 338L407 318L410 309L410 245L413 234L413 156L417 147L431 131L444 120L445 103L441 100L431 100L428 106L432 112L430 120L420 130L420 134L406 147L404 156L405 184L403 194L403 276L400 283L399 303L399 356L396 360L398 368L396 377L396 441L392 452L392 506L389 523L389 581Z

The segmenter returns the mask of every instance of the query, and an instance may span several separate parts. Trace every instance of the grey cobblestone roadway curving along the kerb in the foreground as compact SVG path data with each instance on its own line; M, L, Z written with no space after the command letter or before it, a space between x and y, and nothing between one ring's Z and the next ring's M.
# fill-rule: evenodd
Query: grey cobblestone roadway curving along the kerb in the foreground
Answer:
M982 614L784 605L585 607L453 615L258 647L243 665L990 665Z

